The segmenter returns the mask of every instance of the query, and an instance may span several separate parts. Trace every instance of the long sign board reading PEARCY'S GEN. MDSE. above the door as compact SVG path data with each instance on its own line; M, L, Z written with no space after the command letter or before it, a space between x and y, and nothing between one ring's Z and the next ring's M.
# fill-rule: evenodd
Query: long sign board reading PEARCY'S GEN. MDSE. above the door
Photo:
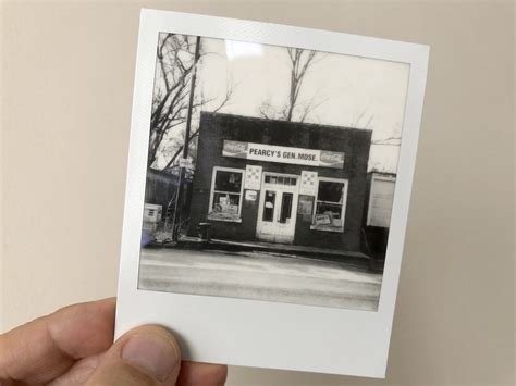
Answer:
M237 140L224 140L222 155L296 165L344 167L343 152L241 142Z

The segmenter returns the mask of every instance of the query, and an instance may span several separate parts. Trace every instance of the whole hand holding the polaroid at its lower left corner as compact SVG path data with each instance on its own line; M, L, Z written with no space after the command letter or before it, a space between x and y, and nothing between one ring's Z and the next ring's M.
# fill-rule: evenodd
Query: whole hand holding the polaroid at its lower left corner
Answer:
M0 335L1 385L223 385L224 365L181 362L174 336L147 325L113 344L115 299L70 306Z

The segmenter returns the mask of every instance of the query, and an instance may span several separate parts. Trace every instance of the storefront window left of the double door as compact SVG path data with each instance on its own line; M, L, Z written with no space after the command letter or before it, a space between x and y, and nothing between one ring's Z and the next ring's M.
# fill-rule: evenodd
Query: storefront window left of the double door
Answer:
M244 171L216 167L213 170L210 212L208 219L236 221L241 217Z

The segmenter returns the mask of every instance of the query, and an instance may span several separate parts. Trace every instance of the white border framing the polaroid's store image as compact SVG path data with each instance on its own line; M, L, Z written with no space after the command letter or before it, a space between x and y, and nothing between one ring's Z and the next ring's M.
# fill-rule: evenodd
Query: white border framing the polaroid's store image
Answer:
M410 65L378 312L138 290L149 122L159 33L305 48ZM421 122L429 47L170 11L142 10L127 164L115 337L162 324L185 359L384 377Z

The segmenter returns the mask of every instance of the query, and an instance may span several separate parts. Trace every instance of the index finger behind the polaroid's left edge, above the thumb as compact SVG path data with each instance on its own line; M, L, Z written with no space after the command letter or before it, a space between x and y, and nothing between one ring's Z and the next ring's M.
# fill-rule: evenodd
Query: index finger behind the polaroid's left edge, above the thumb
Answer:
M115 298L63 308L0 335L0 381L47 383L113 343Z

